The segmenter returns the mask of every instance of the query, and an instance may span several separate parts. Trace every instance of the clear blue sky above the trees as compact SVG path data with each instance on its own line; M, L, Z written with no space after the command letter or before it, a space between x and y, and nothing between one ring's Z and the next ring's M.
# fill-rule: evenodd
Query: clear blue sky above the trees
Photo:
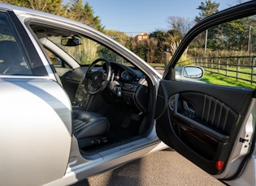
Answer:
M89 2L94 15L99 16L105 29L125 32L128 36L132 36L141 32L171 29L170 23L167 23L170 16L193 20L200 12L197 7L205 0L84 0L83 2ZM235 6L238 0L212 2L218 2L221 11L229 6Z

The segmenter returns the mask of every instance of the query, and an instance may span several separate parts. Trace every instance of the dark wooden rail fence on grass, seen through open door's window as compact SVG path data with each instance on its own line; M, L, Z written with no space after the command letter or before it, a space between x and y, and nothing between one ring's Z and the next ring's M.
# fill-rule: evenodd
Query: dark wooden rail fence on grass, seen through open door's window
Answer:
M202 66L206 72L221 74L229 78L236 78L246 82L256 83L256 56L245 57L196 57L193 62Z

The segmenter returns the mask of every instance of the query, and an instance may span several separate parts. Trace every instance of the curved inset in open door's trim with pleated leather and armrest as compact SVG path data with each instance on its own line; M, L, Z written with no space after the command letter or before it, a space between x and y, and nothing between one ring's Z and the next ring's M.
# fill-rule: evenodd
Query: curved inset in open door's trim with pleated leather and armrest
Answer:
M173 129L186 146L204 157L214 159L218 149L232 142L233 129L240 116L209 95L186 92L169 99Z

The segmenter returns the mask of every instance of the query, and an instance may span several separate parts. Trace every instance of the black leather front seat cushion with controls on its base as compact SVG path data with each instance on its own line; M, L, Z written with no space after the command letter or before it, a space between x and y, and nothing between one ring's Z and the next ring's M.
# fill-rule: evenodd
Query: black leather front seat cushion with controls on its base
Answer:
M80 148L98 146L107 142L106 132L110 128L106 117L96 112L73 108L72 124Z

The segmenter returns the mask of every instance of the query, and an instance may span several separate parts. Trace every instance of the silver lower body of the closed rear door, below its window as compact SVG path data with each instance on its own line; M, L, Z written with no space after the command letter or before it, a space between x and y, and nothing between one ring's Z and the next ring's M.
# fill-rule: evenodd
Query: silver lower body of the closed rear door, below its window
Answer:
M72 142L63 88L49 78L11 77L2 78L0 87L1 184L38 185L63 177Z

